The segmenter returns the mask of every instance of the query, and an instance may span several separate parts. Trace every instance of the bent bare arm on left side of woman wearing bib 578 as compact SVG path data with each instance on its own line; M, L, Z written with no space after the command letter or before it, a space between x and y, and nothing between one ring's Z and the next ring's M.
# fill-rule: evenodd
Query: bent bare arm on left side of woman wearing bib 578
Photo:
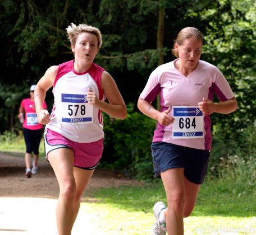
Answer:
M46 96L46 92L53 86L56 74L58 72L58 66L52 66L48 68L44 76L38 81L35 88L35 109L38 121L40 124L48 124L50 119L49 112L43 109L43 102Z

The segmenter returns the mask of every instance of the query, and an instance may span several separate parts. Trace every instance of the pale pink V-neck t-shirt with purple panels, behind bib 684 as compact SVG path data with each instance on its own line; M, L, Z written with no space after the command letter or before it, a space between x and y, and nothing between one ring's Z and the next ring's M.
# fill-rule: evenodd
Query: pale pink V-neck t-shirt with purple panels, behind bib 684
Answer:
M152 102L160 94L161 111L172 106L198 106L204 98L213 100L214 93L220 101L234 97L230 85L220 70L212 64L199 60L198 67L185 77L174 66L179 60L162 64L149 76L148 82L140 94L140 98ZM204 138L176 139L172 137L172 124L163 126L158 123L154 131L153 142L167 142L185 147L211 150L211 117L204 116Z

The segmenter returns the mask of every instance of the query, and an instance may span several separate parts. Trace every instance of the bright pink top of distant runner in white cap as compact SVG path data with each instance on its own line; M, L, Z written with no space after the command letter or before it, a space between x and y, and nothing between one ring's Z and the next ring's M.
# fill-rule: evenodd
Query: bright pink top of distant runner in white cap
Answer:
M23 128L30 130L38 130L44 128L42 124L38 123L38 118L35 112L35 102L31 101L30 98L25 98L21 101L21 106L24 107L25 116ZM47 109L47 104L43 103L43 109Z

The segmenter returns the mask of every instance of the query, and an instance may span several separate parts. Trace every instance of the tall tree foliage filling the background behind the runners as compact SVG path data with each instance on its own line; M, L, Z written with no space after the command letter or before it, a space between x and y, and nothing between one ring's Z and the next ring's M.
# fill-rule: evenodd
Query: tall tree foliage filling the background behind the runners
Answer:
M255 125L254 0L2 0L0 11L0 133L20 128L16 112L30 85L50 65L73 58L65 32L71 22L99 27L103 46L95 62L133 104L157 67L159 53L164 63L173 60L177 33L197 27L205 37L202 59L220 68L239 102L234 114L213 115L218 124L213 133L237 143ZM159 11L164 12L164 35L157 49ZM52 96L47 99L51 104Z

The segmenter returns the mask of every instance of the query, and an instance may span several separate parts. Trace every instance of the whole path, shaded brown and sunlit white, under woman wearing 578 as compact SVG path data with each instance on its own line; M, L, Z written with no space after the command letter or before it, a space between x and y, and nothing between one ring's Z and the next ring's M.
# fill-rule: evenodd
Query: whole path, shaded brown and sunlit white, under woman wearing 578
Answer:
M139 184L113 171L95 170L83 201L93 201L93 190L102 187ZM24 158L0 153L0 235L55 235L58 183L51 165L39 160L39 172L25 177ZM86 211L86 213L84 213ZM90 203L83 204L72 235L103 235L92 223ZM105 233L106 234L106 233Z

